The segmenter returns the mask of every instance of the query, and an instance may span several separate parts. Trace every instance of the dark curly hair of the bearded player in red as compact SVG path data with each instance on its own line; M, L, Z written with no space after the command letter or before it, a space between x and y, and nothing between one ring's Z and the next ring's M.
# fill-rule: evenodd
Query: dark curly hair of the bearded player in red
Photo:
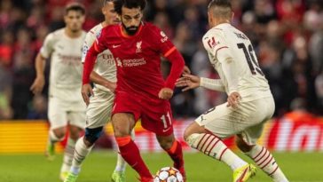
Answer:
M146 7L146 0L115 0L114 1L114 11L119 15L122 14L122 7L129 9L140 8L143 11Z

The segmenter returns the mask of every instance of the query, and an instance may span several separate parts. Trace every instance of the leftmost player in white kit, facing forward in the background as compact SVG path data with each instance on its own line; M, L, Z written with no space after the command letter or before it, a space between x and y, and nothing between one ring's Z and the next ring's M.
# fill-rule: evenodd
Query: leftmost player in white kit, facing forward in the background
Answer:
M67 4L65 28L46 36L35 59L36 78L30 90L35 94L43 91L44 61L51 58L48 117L51 123L46 154L54 156L54 144L64 139L69 123L69 138L60 170L64 180L72 165L75 142L85 126L85 109L82 95L82 45L85 32L82 29L85 9L82 4Z

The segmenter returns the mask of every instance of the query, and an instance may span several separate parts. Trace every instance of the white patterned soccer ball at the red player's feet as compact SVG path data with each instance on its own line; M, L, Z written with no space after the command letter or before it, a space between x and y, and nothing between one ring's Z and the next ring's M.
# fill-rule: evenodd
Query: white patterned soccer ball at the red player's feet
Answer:
M164 167L156 172L154 182L184 182L182 174L174 167Z

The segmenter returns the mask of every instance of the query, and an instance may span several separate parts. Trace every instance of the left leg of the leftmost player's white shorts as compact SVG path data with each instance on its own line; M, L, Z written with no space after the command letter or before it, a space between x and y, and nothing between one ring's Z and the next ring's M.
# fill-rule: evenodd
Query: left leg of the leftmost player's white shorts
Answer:
M63 100L50 97L48 119L51 123L51 130L67 126L67 107L65 107Z

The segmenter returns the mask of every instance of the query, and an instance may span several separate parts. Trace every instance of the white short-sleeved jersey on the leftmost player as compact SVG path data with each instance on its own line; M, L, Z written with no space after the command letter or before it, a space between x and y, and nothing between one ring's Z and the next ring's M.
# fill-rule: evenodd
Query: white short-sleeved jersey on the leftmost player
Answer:
M82 99L82 44L86 33L77 38L68 37L64 28L46 36L40 53L51 57L50 97L67 101Z

